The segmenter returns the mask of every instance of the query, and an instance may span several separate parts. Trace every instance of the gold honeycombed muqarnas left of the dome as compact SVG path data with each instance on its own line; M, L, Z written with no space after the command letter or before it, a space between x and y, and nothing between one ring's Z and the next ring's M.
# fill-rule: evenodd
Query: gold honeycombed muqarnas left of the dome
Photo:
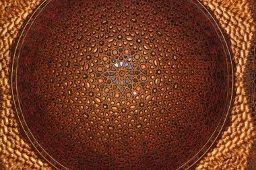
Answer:
M11 109L9 85L10 47L18 36L24 19L40 1L0 1L0 165L3 169L40 169L48 167L38 159L20 135L17 120ZM51 168L49 168L51 169Z

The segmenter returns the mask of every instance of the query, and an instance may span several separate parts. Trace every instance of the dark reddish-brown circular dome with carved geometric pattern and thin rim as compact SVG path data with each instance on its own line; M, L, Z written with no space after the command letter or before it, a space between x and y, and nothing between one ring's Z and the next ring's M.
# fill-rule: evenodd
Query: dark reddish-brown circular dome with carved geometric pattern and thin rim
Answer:
M231 66L197 1L44 1L15 48L13 97L58 169L186 169L225 124Z

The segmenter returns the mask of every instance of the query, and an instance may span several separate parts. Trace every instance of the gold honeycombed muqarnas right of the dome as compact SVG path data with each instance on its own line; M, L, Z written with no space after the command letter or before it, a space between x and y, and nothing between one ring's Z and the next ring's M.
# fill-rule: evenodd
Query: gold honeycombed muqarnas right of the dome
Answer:
M255 139L255 127L247 96L245 75L255 25L250 1L203 1L231 40L236 64L236 97L231 126L222 134L216 148L200 161L197 169L246 169L247 158Z

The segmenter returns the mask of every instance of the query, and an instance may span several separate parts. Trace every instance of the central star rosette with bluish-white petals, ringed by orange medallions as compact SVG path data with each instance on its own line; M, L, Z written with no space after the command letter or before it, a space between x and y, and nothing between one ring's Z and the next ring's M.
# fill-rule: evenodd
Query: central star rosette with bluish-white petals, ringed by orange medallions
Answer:
M150 74L147 70L149 63L149 57L141 57L135 50L118 48L98 60L97 73L91 73L91 77L96 77L97 86L106 96L115 99L135 98L146 85L152 88L149 81L154 78L150 77L154 71Z

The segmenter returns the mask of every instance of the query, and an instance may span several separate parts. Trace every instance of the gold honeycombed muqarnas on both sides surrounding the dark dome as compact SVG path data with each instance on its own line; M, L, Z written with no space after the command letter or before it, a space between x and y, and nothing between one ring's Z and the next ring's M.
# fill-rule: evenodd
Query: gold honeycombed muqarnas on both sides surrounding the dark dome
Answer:
M245 76L253 44L255 22L247 0L202 0L226 30L235 62L236 96L230 126L217 142L216 148L199 161L196 169L247 169L248 157L255 140ZM11 109L10 48L24 20L40 5L40 1L0 1L0 168L52 169L39 159L20 134L20 125ZM254 159L255 160L255 159Z

